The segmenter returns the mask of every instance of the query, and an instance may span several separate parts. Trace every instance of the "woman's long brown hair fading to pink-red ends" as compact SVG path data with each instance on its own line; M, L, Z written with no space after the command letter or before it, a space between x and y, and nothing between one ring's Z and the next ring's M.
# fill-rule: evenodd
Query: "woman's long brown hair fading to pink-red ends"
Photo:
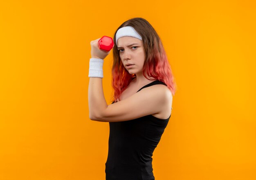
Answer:
M160 40L159 35L149 24L149 22L143 18L132 18L127 20L118 29L132 26L139 35L142 37L142 42L145 51L145 62L143 66L143 75L146 77L153 77L159 81L164 82L174 95L176 91L176 83L174 81L171 66L168 62L164 46ZM118 31L117 29L117 31ZM114 35L114 42L116 42L116 33ZM130 74L119 56L119 50L115 45L113 48L113 66L112 66L112 87L114 88L114 97L112 101L120 100L121 93L128 87L132 79L136 77L135 74ZM149 79L150 80L150 79Z

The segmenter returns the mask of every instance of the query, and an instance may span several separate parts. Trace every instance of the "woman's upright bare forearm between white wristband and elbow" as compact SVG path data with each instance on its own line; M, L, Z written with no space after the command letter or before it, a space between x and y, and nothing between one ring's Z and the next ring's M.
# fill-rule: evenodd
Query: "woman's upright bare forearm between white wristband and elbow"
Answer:
M101 118L102 112L108 107L103 93L102 78L90 77L88 103L90 119L96 120L97 118Z

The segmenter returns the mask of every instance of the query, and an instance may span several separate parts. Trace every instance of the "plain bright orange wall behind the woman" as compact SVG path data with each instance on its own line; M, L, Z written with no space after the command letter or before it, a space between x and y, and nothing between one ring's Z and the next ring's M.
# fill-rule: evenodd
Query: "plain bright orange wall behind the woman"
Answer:
M0 180L103 180L108 123L88 114L90 41L153 25L177 91L156 180L256 179L252 0L0 2ZM112 52L103 89L111 103Z

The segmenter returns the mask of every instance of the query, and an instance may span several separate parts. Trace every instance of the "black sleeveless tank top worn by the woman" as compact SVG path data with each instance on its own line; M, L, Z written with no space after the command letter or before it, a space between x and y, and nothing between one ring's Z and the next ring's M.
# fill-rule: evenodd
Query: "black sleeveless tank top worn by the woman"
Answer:
M166 86L157 80L141 89L155 84ZM158 119L147 115L129 121L109 122L106 180L155 180L152 168L153 151L170 117L171 115L167 119Z

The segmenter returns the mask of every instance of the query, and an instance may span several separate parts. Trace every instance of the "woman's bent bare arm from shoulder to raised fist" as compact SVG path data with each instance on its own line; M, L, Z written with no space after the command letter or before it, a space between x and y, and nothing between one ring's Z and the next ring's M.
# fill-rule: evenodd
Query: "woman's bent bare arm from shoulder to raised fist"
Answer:
M99 39L98 39L99 40ZM100 52L101 55L95 55L97 52L97 40L91 42L92 60L102 62L108 55L106 52ZM96 49L96 50L95 50ZM103 53L103 54L102 54ZM105 53L105 54L104 54ZM91 60L90 60L91 63ZM98 62L97 62L98 63ZM100 63L99 63L100 64ZM99 64L97 67L99 67ZM102 65L102 64L101 64ZM100 71L100 68L94 68ZM97 70L98 69L98 70ZM102 68L101 68L102 69ZM93 72L92 72L93 74ZM97 73L96 73L97 74ZM102 73L98 73L102 74ZM90 70L89 70L90 75ZM97 76L97 75L96 75ZM157 114L163 109L170 109L171 113L172 94L170 90L157 84L142 89L127 99L108 105L103 93L102 78L90 77L88 87L89 118L94 121L117 122L128 121L142 116Z

